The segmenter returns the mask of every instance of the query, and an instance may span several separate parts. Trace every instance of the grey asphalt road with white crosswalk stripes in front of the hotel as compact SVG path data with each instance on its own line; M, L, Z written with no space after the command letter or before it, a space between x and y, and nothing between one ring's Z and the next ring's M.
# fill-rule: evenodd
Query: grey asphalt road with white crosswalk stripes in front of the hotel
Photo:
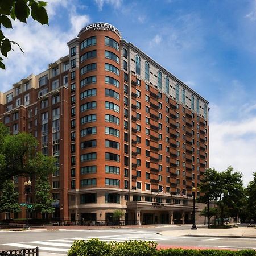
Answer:
M39 246L40 256L43 251L55 255L67 255L73 240L99 238L103 241L125 241L130 239L155 241L163 247L208 247L219 249L254 249L256 238L228 237L189 237L175 236L175 230L188 229L188 226L159 226L152 228L117 228L117 229L73 229L73 230L28 230L16 232L0 231L0 250L32 248ZM159 232L173 230L173 236L162 236Z

